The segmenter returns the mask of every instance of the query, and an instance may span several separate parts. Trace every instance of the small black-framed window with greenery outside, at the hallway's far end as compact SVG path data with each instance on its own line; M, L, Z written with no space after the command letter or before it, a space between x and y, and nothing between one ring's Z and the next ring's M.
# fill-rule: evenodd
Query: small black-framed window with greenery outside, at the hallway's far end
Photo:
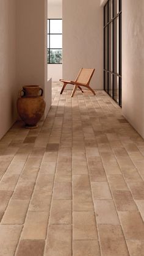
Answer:
M62 64L62 19L48 19L48 64Z

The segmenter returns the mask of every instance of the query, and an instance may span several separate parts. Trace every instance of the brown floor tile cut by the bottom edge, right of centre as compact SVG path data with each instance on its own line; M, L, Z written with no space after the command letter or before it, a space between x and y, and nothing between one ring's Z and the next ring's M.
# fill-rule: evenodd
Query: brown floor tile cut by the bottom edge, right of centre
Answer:
M103 256L129 256L120 225L98 225Z

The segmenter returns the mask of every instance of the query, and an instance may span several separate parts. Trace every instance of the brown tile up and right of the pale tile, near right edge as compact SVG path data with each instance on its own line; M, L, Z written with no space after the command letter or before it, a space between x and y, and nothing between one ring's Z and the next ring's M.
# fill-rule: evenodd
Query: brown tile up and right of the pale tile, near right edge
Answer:
M112 193L118 211L138 210L130 191L115 190Z

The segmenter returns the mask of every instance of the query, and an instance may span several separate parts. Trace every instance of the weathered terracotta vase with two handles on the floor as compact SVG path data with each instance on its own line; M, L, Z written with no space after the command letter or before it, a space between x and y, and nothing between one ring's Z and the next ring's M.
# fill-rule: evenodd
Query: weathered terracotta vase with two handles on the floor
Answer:
M37 127L37 123L45 111L45 106L43 89L40 86L23 86L19 92L17 109L26 128Z

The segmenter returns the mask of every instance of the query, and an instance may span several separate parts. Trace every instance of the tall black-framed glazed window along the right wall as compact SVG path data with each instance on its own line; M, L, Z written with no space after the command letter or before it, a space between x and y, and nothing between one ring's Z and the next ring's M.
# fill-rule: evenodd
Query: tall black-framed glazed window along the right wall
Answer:
M104 90L121 106L121 0L104 6Z

